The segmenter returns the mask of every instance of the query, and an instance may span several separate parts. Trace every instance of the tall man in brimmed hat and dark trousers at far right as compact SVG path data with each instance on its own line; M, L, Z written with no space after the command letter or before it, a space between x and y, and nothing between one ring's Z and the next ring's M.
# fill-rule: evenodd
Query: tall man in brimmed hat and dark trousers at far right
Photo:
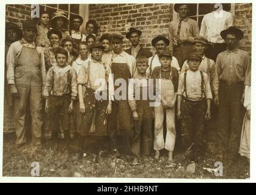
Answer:
M247 52L238 49L243 31L236 27L222 30L221 37L227 49L216 59L214 80L214 101L219 107L219 137L221 141L221 160L227 165L235 163L240 146L243 107L244 78L251 71Z

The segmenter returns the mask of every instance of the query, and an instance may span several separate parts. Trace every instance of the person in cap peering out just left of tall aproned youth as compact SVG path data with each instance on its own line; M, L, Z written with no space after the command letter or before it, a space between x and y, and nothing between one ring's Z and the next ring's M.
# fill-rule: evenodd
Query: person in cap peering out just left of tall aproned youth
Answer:
M103 51L103 55L102 55L102 62L105 63L106 65L108 65L109 67L111 66L111 61L112 61L112 55L113 52L111 51L111 46L109 43L109 34L103 34L100 37L100 42L103 44L104 46L104 51Z

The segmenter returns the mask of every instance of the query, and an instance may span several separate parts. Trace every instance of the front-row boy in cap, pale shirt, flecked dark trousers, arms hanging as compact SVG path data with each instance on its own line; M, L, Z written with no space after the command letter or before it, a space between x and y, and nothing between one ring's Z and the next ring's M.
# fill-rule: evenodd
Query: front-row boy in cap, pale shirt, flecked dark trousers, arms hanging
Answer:
M92 60L85 63L78 73L79 110L82 113L82 127L79 129L80 159L83 157L84 143L92 126L94 112L93 135L103 137L106 136L106 119L112 110L114 87L110 67L101 62L103 50L102 43L93 43L90 47Z

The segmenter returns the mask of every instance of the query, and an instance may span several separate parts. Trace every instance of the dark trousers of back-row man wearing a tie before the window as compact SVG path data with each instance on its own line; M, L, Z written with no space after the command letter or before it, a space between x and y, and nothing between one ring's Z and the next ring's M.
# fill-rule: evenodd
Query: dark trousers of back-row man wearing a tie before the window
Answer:
M174 46L174 57L178 60L178 65L182 68L183 63L186 61L186 56L193 51L192 44L184 44Z

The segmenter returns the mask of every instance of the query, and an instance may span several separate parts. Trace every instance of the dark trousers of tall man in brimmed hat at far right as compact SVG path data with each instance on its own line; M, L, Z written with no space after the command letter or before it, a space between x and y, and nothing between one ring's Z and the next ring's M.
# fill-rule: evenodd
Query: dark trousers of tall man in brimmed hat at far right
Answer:
M245 108L241 104L244 83L219 85L219 138L221 154L235 160L240 146L241 128Z

